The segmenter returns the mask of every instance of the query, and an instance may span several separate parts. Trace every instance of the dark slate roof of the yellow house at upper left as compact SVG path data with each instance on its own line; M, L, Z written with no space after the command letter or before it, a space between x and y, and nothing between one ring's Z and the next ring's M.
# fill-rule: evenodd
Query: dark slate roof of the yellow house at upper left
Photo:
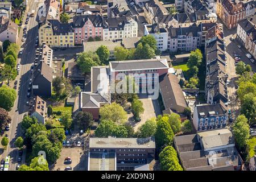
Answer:
M72 23L60 23L59 20L56 19L49 19L47 21L51 24L54 35L66 35L69 32L74 32Z

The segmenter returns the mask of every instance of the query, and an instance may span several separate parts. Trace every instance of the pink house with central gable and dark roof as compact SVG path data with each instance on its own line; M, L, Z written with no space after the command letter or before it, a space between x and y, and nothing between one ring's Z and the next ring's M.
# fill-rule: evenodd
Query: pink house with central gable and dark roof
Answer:
M87 42L89 38L103 40L103 19L100 15L79 15L73 18L75 44Z

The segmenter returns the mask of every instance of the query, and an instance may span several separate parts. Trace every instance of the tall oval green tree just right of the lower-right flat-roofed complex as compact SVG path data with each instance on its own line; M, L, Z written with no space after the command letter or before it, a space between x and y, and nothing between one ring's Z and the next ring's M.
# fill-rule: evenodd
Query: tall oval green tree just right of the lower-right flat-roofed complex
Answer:
M240 148L245 147L250 138L250 127L247 122L247 118L242 114L237 117L233 125L234 138L236 139L237 146Z

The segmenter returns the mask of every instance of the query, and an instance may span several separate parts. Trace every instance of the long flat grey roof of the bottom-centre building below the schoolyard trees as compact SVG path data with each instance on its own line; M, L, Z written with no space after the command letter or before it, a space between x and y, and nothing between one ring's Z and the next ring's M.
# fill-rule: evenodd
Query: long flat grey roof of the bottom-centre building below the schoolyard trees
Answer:
M89 148L155 148L155 138L90 138Z

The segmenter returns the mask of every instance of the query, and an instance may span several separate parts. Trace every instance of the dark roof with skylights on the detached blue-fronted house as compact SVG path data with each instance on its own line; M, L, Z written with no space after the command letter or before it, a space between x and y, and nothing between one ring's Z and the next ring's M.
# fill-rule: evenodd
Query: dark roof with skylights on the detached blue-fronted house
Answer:
M215 116L221 116L226 114L226 110L220 104L201 104L196 105L197 115L199 118L208 117L210 111L215 112ZM200 113L204 113L204 116L201 116Z

